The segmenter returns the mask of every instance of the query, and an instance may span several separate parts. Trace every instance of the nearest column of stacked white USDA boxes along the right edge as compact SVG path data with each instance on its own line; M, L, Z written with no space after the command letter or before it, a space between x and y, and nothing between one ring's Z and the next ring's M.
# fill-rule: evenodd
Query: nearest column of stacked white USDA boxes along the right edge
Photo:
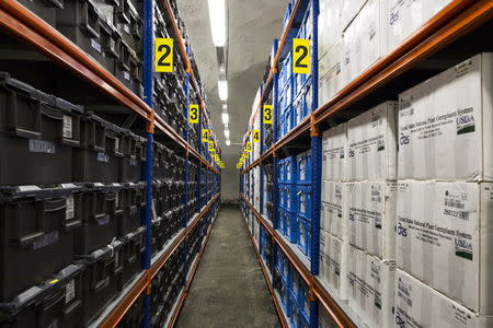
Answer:
M493 54L480 54L399 96L395 307L404 323L492 325L492 85ZM438 305L447 311L434 314Z

